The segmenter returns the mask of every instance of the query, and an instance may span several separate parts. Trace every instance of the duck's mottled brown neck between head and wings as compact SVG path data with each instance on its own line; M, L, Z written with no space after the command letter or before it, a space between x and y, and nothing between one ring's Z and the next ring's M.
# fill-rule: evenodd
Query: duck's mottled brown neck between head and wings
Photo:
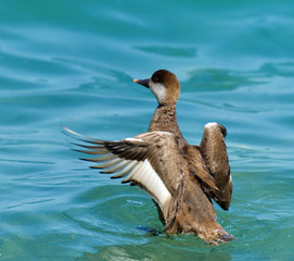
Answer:
M174 134L181 150L184 149L184 147L188 145L188 142L182 137L178 125L176 104L158 105L152 116L148 130L169 132Z

